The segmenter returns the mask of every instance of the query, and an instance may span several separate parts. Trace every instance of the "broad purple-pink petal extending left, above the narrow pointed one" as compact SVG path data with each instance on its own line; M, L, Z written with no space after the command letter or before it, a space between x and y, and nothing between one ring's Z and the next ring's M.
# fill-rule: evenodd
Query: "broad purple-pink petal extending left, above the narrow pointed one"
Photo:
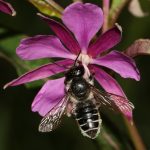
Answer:
M19 57L25 60L51 57L74 59L76 57L66 50L57 37L50 35L25 38L16 51Z

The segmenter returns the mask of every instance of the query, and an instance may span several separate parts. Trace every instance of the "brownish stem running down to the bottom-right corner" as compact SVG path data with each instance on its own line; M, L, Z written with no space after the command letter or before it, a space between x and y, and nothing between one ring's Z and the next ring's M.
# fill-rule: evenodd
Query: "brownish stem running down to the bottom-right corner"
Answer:
M142 139L136 129L134 122L131 124L131 122L129 122L126 117L123 116L123 118L124 118L126 127L128 128L129 135L134 144L135 149L136 150L146 150L146 148L142 142Z

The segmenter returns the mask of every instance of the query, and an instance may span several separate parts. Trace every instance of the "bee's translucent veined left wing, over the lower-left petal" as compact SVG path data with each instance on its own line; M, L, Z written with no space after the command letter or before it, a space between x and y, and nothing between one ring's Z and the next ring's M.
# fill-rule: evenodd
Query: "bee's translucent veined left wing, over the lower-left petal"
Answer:
M59 125L61 117L65 112L68 99L69 97L65 96L44 116L39 125L40 132L50 132Z

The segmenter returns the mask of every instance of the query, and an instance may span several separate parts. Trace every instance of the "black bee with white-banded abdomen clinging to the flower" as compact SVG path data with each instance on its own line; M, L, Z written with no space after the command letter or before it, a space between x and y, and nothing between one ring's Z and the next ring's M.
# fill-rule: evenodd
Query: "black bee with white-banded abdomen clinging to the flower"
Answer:
M62 116L67 114L75 118L84 136L95 139L100 133L102 123L99 108L111 108L120 112L133 109L133 104L126 98L98 90L94 86L92 75L85 77L85 73L82 64L76 64L66 72L66 95L41 120L40 132L53 131Z

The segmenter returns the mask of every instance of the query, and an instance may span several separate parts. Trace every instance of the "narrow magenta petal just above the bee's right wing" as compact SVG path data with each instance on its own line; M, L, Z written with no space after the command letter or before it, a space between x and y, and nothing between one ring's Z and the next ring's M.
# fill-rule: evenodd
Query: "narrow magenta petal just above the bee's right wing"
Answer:
M99 84L104 88L106 92L126 97L122 88L114 78L112 78L109 74L107 74L99 67L96 67L94 65L90 65L89 67L90 70L94 73L95 79L99 82Z

